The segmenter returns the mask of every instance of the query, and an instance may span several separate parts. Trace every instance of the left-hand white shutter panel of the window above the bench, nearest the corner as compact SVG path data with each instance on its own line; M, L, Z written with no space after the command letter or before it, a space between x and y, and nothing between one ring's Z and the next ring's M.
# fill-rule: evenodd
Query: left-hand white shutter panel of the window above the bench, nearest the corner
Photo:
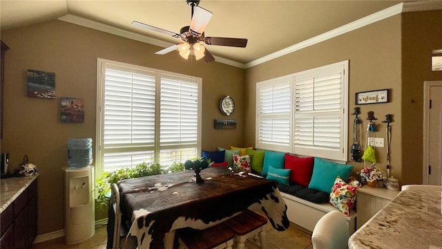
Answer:
M257 125L256 147L289 150L291 82L283 79L256 88Z

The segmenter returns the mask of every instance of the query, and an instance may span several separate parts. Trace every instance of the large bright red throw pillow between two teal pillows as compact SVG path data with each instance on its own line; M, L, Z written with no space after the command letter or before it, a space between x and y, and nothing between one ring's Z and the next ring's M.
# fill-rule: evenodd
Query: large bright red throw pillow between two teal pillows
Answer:
M290 182L309 187L311 174L313 174L314 158L298 158L285 154L285 169L291 169Z

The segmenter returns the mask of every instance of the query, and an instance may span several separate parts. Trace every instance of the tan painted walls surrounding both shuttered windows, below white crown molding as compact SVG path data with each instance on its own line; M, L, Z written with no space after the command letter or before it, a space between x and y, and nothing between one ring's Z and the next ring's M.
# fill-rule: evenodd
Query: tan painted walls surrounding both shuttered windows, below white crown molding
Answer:
M6 52L1 149L10 152L12 167L19 165L24 154L39 167L39 234L54 232L64 228L67 140L95 138L97 57L202 77L202 147L208 150L255 144L256 82L349 59L349 112L355 107L356 92L392 89L390 103L359 106L363 130L367 111L374 111L378 118L376 136L385 138L386 125L381 121L385 114L393 114L392 174L401 179L401 184L419 183L422 82L442 78L441 72L431 72L429 66L430 50L441 48L441 14L396 15L246 71L216 62L184 62L176 53L153 55L160 48L61 21L8 30L1 33L2 41L10 47ZM26 97L28 69L56 74L55 100ZM224 118L218 111L222 95L232 95L236 101L231 118L238 120L237 129L213 129L213 119ZM83 124L59 121L60 97L85 99ZM353 119L349 116L349 145ZM376 149L378 165L384 169L385 155L385 148ZM363 163L350 163L355 165L354 171L363 167Z

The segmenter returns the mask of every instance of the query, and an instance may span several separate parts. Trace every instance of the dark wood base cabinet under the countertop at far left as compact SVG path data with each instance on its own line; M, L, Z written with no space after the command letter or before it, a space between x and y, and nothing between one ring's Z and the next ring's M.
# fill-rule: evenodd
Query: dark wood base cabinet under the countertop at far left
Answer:
M36 179L1 213L0 248L32 248L37 237L37 200Z

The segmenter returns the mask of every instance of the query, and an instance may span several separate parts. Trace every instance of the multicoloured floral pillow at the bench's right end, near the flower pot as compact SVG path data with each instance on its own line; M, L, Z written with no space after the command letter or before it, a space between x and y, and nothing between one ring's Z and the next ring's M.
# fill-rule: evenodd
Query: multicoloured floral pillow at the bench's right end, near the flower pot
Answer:
M356 201L358 187L358 181L345 183L343 178L340 178L340 176L336 177L332 192L330 193L330 203L340 210L340 212L343 212L345 216L349 216Z

